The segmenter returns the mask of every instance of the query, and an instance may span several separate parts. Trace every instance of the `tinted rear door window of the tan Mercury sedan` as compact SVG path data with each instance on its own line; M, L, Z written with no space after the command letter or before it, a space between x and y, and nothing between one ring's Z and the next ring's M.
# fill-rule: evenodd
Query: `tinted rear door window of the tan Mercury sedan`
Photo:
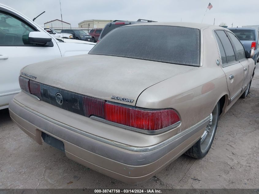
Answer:
M226 53L227 63L235 62L236 57L235 57L234 49L232 47L230 40L227 37L227 34L223 30L217 30L216 33L219 36L219 39Z

